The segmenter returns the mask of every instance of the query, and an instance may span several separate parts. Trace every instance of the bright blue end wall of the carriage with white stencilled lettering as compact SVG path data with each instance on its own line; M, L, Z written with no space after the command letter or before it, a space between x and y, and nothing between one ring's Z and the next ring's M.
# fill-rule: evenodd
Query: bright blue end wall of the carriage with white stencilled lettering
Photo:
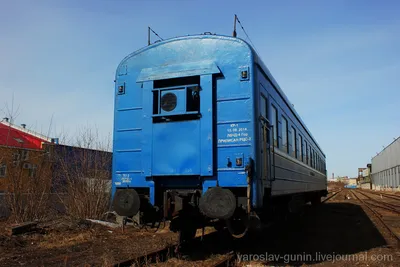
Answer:
M247 187L245 168L255 158L252 68L245 42L212 35L173 38L126 57L116 75L113 193L148 189L154 204L161 185ZM180 106L182 90L196 86L200 110ZM160 107L167 91L178 99L175 118Z

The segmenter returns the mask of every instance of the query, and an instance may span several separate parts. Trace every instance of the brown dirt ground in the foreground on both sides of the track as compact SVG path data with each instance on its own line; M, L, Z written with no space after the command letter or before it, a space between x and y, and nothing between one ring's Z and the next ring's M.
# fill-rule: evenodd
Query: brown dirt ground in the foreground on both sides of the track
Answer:
M204 238L185 259L161 265L209 266L236 251L237 266L400 266L394 238L357 199L346 197L349 191L243 239L225 233ZM62 220L51 223L39 233L9 237L0 232L0 266L108 266L177 241L166 230L122 232ZM5 224L0 226L3 230Z

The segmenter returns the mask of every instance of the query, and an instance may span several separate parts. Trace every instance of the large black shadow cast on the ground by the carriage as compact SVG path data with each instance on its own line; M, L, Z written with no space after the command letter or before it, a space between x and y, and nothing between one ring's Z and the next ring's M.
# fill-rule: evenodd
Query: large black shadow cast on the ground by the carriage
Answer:
M385 239L360 206L326 203L317 208L307 206L302 215L241 240L226 233L205 239L201 248L186 256L195 261L234 250L242 261L301 265L323 262L327 255L355 254L385 245Z

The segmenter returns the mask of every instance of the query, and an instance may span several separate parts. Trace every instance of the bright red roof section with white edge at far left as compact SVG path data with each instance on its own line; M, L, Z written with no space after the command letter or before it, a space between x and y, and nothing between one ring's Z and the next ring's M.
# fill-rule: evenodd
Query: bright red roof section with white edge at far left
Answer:
M35 133L8 122L8 119L0 122L0 146L42 149L43 143L51 143L51 138Z

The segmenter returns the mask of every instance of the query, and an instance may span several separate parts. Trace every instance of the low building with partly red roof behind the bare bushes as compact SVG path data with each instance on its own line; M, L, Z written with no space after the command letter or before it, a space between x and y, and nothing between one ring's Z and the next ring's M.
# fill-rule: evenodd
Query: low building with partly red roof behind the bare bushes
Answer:
M23 191L38 176L50 183L49 190L72 178L110 183L111 163L111 152L58 144L7 118L0 122L0 193Z

